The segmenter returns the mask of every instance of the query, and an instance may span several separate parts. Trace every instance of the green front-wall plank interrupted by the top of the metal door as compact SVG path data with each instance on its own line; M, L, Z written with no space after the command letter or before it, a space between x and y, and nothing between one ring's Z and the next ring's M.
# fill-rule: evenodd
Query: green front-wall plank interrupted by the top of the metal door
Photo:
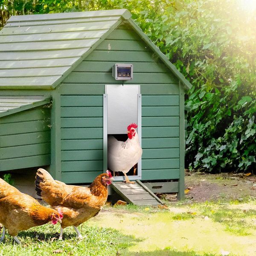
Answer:
M120 82L114 80L111 84L120 84ZM62 83L61 94L104 94L105 83L102 84L74 84L74 83ZM176 94L179 93L179 87L177 84L140 84L140 92L143 95L147 94Z

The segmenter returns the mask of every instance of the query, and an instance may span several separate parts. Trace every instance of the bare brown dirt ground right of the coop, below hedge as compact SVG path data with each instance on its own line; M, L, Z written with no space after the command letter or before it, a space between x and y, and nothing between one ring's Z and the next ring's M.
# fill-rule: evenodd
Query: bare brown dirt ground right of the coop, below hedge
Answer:
M247 176L248 175L248 176ZM185 173L186 201L256 200L256 175ZM176 195L160 195L168 201L177 201Z

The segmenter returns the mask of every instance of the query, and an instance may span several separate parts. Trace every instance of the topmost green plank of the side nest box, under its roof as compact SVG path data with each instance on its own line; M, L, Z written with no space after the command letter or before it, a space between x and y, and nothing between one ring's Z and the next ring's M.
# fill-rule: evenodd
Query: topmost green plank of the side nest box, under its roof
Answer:
M21 111L15 115L3 116L0 118L0 124L11 122L26 122L33 120L43 120L49 118L50 113L48 108L37 108L32 110ZM50 120L49 120L50 122Z

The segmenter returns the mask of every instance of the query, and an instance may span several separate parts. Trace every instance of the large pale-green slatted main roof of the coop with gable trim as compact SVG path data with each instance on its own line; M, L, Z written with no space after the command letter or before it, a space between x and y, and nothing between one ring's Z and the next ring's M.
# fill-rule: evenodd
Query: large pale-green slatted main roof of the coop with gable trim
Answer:
M191 84L126 9L12 16L0 30L0 89L52 89L126 21L181 83Z

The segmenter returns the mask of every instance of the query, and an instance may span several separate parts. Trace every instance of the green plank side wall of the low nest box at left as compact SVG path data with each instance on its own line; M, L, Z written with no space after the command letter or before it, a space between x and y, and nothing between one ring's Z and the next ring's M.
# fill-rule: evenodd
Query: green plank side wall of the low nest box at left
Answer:
M0 171L50 164L50 110L38 107L0 118Z

